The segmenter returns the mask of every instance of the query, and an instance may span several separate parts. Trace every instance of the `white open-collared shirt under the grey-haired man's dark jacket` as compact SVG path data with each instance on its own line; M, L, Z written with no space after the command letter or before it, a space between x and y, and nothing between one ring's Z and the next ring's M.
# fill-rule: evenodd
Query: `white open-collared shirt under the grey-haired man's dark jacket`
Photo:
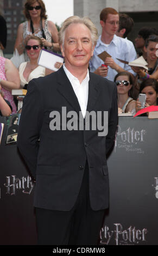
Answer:
M85 118L87 102L89 97L89 80L90 80L89 70L87 69L87 75L83 80L83 82L80 83L78 78L73 76L71 72L68 71L65 64L63 64L63 68L65 71L65 74L68 77L69 82L71 82L74 93L77 96L77 99L81 108L81 112L83 114L83 117Z

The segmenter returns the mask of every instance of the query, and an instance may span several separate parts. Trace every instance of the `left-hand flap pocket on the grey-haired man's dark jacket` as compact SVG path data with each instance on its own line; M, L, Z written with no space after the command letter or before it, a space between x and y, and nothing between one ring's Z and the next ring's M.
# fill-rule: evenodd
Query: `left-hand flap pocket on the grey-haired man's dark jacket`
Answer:
M60 166L37 166L36 174L59 175Z

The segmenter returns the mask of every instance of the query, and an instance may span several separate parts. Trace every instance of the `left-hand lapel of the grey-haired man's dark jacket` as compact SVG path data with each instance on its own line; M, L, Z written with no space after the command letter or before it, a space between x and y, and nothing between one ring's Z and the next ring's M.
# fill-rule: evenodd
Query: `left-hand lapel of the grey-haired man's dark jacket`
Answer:
M58 71L57 82L59 83L58 91L62 94L62 96L65 97L65 99L75 109L75 111L81 111L77 96L75 95L73 87L69 82L63 68Z

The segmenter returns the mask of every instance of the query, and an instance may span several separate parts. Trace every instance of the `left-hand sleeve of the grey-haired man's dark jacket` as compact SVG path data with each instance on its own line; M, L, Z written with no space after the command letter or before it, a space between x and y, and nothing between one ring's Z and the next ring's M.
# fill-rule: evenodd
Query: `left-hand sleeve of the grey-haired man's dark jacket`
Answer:
M43 100L41 92L35 80L31 80L28 84L27 95L23 100L17 146L34 177L42 120Z

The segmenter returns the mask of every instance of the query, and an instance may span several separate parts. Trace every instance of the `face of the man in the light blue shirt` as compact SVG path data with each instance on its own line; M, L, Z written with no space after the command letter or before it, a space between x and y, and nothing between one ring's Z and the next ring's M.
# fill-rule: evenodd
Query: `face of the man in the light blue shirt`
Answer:
M119 15L118 14L108 14L106 21L100 21L103 33L109 36L115 35L119 27Z

